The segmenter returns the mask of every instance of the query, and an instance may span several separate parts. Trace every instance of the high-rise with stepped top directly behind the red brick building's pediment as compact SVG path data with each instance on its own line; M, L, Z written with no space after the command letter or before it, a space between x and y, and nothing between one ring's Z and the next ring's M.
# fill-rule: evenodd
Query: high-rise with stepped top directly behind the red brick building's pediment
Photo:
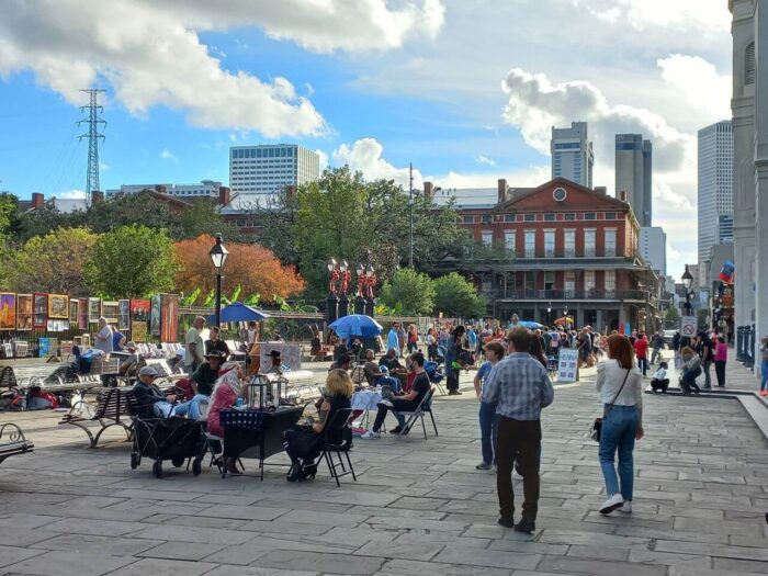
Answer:
M550 140L552 178L565 178L592 188L592 143L587 139L587 123L572 122L569 128L552 126Z

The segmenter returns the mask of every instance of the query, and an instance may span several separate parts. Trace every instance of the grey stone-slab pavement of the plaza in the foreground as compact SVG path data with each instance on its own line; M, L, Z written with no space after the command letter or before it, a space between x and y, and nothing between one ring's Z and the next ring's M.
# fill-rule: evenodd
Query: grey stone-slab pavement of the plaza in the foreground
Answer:
M359 481L341 488L323 467L298 485L285 468L261 483L168 464L156 479L146 461L129 468L128 443L109 441L120 430L90 450L58 415L2 414L37 448L0 465L0 574L768 574L768 441L737 400L646 395L635 512L601 517L597 448L585 438L598 413L594 370L557 386L527 535L496 524L495 477L474 470L471 376L463 396L436 399L439 438L355 439Z

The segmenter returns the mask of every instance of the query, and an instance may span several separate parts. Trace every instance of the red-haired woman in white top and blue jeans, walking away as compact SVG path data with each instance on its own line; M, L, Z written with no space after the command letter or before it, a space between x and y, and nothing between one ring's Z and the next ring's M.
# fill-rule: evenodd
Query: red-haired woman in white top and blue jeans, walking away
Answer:
M634 442L643 438L644 432L643 375L634 369L634 350L625 336L608 337L608 360L598 364L597 391L603 406L599 453L608 495L600 513L608 515L615 509L629 513L634 483Z

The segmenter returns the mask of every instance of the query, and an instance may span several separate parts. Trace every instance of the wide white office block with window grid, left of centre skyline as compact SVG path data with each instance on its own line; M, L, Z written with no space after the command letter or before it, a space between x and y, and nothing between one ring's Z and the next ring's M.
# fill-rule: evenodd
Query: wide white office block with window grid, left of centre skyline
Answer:
M231 146L229 188L233 194L273 194L320 177L320 157L297 144Z

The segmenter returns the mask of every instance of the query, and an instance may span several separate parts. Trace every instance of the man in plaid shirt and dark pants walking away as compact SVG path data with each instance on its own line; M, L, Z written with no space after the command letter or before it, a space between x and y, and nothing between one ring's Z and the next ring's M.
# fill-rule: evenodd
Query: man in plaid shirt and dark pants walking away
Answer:
M488 376L485 402L496 403L498 454L496 489L499 498L498 523L518 532L535 530L539 511L539 453L541 409L554 400L554 388L546 369L528 353L534 335L521 326L507 332L509 354ZM522 475L522 518L515 523L512 466L517 461Z

